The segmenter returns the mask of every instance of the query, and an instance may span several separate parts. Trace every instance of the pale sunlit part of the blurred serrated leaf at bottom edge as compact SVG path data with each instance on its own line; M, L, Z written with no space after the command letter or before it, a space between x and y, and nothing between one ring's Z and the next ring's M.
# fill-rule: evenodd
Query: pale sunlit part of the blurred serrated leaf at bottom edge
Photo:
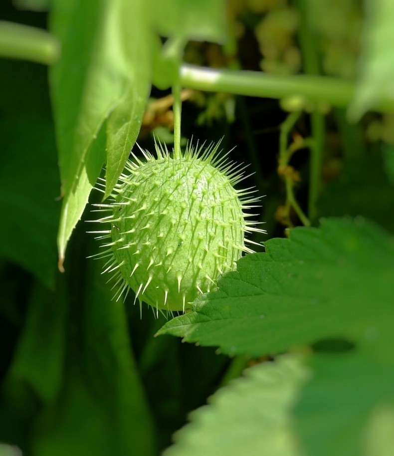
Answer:
M209 398L164 456L297 456L290 411L308 378L294 355L259 364Z

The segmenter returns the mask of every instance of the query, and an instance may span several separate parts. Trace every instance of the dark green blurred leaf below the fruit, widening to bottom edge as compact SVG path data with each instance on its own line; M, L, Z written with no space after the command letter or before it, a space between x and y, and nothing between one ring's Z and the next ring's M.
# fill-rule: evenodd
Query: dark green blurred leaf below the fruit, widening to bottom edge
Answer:
M33 456L155 454L124 306L111 300L100 270L99 262L90 260L86 275L78 267L72 272L71 286L79 292L82 283L88 286L70 303L73 326L64 388L57 404L36 420Z

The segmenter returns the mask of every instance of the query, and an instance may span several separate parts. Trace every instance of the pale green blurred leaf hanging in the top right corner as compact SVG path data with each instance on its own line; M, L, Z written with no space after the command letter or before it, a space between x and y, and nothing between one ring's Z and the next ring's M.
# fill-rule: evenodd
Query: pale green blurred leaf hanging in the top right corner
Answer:
M366 1L366 20L355 98L348 116L358 120L386 99L393 99L394 4L391 0Z

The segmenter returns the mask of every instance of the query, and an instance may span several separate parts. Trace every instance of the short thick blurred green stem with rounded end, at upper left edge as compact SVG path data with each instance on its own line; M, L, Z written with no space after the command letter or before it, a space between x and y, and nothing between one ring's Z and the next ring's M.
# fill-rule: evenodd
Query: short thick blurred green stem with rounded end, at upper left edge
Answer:
M45 30L0 21L0 56L50 65L60 55L58 40Z

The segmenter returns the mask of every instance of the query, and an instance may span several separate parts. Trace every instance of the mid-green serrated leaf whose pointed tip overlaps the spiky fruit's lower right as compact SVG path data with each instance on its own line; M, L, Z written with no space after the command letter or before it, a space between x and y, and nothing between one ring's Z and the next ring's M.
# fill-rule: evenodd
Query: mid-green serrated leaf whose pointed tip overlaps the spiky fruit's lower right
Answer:
M217 291L197 298L159 334L260 356L323 337L365 341L368 327L393 315L393 239L364 219L295 228L265 248L241 258Z

